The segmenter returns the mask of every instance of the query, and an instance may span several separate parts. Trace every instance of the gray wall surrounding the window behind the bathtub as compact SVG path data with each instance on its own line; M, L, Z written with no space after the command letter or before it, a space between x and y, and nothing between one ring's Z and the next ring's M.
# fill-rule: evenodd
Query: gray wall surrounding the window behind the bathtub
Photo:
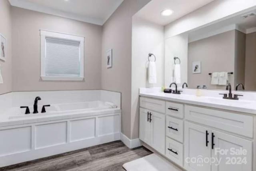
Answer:
M16 7L11 12L13 91L101 89L102 26ZM40 79L40 29L85 37L83 82Z

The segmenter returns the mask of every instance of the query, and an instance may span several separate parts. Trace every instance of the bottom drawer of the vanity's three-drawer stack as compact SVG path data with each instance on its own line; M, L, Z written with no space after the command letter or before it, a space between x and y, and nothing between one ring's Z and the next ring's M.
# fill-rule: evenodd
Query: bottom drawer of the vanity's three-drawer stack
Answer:
M178 165L183 166L183 145L166 137L165 156Z

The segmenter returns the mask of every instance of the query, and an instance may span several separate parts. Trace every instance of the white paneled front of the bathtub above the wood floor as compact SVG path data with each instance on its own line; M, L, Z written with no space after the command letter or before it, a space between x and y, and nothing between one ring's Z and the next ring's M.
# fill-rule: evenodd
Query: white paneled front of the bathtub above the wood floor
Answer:
M120 140L121 113L0 127L0 167Z

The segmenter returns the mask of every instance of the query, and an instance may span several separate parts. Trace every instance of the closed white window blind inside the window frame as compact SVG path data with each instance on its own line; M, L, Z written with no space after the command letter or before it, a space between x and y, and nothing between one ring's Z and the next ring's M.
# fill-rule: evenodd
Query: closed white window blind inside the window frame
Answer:
M46 76L80 76L80 42L46 37Z

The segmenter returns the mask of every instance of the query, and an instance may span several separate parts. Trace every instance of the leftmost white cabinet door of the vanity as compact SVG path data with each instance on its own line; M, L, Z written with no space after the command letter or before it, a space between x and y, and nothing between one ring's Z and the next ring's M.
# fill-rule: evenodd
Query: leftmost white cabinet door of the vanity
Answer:
M148 121L148 110L140 108L140 139L151 145L150 122Z

